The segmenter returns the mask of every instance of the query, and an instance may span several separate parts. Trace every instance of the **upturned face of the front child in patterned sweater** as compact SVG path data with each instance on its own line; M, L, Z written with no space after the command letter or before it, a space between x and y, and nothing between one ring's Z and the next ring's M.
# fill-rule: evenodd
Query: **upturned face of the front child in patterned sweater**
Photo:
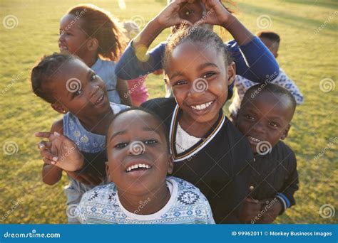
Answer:
M119 193L144 195L156 191L173 171L163 128L146 112L132 110L116 117L107 141L106 172Z

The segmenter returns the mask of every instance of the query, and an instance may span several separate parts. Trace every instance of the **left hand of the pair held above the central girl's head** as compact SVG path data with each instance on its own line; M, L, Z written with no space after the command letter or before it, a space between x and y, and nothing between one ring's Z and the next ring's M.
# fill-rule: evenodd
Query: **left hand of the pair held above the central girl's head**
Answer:
M163 28L176 26L180 23L186 23L192 26L192 23L183 18L180 18L179 11L181 4L193 3L194 1L195 0L174 0L168 6L166 6L165 9L163 9L163 11L161 11L158 16L155 17L155 19L158 21L160 26L163 26Z

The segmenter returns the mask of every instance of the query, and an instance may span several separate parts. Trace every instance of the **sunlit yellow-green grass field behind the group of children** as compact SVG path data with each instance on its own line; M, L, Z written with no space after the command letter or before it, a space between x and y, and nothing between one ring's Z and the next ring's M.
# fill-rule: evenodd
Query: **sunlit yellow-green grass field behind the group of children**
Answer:
M39 139L34 137L36 131L47 131L58 114L33 95L28 77L41 55L58 51L58 21L67 9L81 2L0 2L0 223L66 223L63 186L67 178L63 175L61 182L53 186L42 183L43 162L36 148ZM91 1L121 21L140 19L140 25L155 16L165 2L128 0L126 9L121 10L118 1ZM286 140L298 158L297 205L279 217L277 223L337 223L338 213L333 215L332 209L338 210L338 87L334 88L338 67L338 2L235 2L236 16L252 32L267 24L267 29L280 33L278 62L305 97ZM257 24L257 20L262 22ZM165 40L168 33L169 30L161 33L155 43ZM150 75L147 87L150 98L164 95L160 76ZM321 207L325 208L324 217L319 214ZM327 216L331 213L332 217L326 217L325 213Z

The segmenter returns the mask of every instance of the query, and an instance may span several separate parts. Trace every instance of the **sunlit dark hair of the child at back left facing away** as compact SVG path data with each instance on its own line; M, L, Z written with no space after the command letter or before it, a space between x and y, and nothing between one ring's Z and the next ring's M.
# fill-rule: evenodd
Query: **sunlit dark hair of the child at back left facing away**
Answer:
M86 4L74 6L68 14L81 18L81 28L88 36L98 40L98 55L103 59L118 60L128 40L120 23L111 13L93 4Z

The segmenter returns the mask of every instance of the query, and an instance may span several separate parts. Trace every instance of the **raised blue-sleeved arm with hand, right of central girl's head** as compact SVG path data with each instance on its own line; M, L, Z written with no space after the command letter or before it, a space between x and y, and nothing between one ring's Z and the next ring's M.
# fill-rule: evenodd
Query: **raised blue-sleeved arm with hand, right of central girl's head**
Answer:
M207 18L203 23L222 26L231 33L235 41L228 45L236 63L237 75L254 82L264 82L267 75L277 77L279 66L270 50L235 18L218 0L203 0ZM242 51L242 53L240 52ZM244 55L244 57L243 57Z

